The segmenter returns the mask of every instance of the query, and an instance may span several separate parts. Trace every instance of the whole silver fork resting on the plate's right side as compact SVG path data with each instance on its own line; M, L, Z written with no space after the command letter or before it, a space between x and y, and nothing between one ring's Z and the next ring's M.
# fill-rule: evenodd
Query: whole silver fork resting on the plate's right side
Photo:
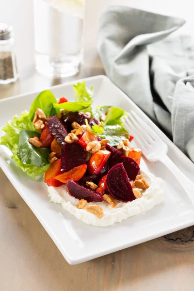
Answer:
M134 111L125 117L123 123L134 136L135 143L148 161L162 162L177 178L194 204L194 183L187 178L167 156L168 147L162 139Z

